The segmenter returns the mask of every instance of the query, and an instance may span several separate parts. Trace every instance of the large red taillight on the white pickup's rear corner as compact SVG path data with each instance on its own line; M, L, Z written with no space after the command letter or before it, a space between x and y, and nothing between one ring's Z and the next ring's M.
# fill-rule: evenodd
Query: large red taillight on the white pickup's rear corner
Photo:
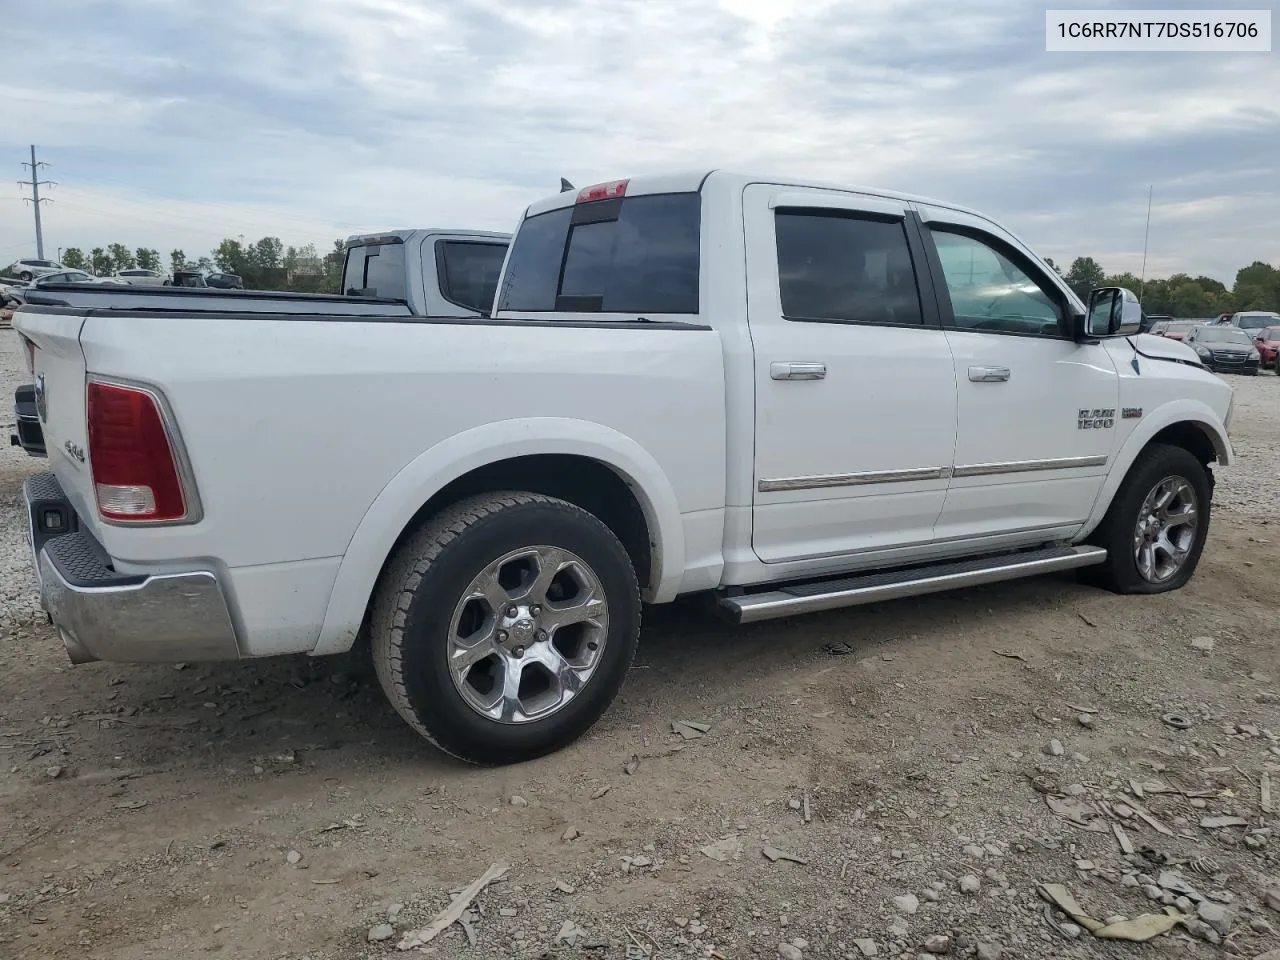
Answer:
M155 522L187 516L160 404L147 390L90 381L88 460L104 520Z

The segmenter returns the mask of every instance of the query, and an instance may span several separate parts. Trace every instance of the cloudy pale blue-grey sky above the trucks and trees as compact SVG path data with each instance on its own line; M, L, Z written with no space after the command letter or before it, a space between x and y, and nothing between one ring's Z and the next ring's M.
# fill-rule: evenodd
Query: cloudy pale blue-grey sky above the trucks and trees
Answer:
M1277 54L1047 54L1024 0L38 6L5 23L0 172L50 163L50 256L507 229L562 175L722 166L957 201L1134 271L1155 184L1148 275L1280 262ZM12 180L4 262L35 247Z

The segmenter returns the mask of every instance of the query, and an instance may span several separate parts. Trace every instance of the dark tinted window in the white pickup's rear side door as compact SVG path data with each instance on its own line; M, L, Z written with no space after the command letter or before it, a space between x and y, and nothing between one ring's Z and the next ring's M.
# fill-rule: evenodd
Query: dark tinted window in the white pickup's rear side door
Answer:
M788 320L922 325L901 220L780 210L778 287Z

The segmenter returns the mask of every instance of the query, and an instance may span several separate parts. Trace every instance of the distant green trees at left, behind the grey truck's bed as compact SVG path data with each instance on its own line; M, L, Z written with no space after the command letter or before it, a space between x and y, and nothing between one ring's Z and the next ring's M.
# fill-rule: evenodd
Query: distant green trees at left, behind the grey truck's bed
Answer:
M68 247L61 262L73 270L84 270L95 276L110 276L116 270L195 270L236 274L247 289L296 291L300 293L337 293L342 287L342 266L346 261L344 242L335 239L333 248L321 256L314 243L301 247L285 246L279 237L262 237L246 242L243 237L227 238L206 256L191 259L182 250L169 251L161 257L154 247L127 247L108 243L83 251Z

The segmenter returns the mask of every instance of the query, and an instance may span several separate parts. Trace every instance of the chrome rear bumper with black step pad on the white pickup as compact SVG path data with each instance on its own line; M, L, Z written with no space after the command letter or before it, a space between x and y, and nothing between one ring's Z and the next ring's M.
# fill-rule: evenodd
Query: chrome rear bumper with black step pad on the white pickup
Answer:
M218 575L119 573L52 474L23 484L40 600L72 663L239 658Z

